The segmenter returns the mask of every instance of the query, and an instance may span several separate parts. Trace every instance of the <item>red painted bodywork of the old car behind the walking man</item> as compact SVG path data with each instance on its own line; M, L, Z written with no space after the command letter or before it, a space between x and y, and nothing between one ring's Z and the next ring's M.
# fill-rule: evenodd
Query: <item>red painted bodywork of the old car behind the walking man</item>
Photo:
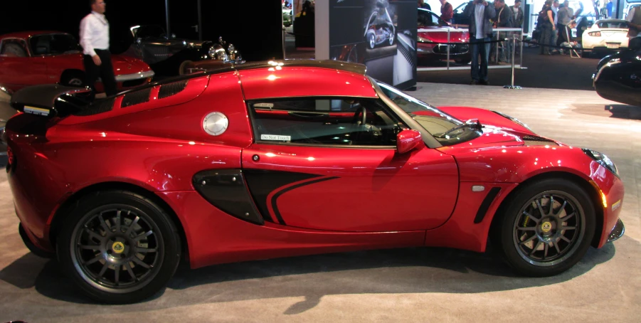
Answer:
M29 46L29 38L32 36L56 34L57 31L28 31L21 33L9 33L0 36L0 43L6 38L18 38L26 41ZM31 50L30 50L31 53ZM137 73L148 73L152 69L147 63L136 58L129 58L122 55L112 55L114 75L132 75ZM83 53L65 53L59 55L35 55L30 57L8 57L0 55L0 84L11 90L19 90L29 85L53 84L62 81L65 71L84 72ZM126 90L133 86L149 83L152 78L139 80L132 85L124 82L117 82L119 90ZM102 92L102 83L96 83L96 90Z

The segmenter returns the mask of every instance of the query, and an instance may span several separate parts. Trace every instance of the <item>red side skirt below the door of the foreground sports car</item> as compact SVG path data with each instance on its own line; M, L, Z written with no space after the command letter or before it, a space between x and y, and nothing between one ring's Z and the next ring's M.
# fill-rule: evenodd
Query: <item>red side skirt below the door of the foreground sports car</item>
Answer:
M233 218L194 191L159 195L182 215L192 268L244 260L423 245L425 231L345 233L314 231Z

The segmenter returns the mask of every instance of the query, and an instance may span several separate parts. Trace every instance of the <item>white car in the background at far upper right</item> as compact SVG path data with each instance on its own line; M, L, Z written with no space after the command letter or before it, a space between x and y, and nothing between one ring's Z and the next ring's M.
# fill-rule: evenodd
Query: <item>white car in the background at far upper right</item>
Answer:
M627 21L602 19L583 31L583 51L608 51L627 48Z

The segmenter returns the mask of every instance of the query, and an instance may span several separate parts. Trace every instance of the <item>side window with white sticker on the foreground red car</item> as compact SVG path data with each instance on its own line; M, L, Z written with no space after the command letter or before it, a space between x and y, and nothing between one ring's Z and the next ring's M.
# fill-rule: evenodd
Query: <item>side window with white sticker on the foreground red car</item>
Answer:
M378 99L286 99L248 102L257 142L396 146L404 127Z

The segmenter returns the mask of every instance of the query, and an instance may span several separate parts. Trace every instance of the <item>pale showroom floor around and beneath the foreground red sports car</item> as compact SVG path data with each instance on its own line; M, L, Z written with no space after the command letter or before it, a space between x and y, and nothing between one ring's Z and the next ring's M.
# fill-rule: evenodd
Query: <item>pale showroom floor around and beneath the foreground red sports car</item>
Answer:
M641 110L615 105L613 115L588 90L419 83L410 94L499 110L608 154L625 183L625 236L556 277L515 277L490 254L408 248L181 268L148 302L104 306L24 247L0 174L0 322L641 322Z

